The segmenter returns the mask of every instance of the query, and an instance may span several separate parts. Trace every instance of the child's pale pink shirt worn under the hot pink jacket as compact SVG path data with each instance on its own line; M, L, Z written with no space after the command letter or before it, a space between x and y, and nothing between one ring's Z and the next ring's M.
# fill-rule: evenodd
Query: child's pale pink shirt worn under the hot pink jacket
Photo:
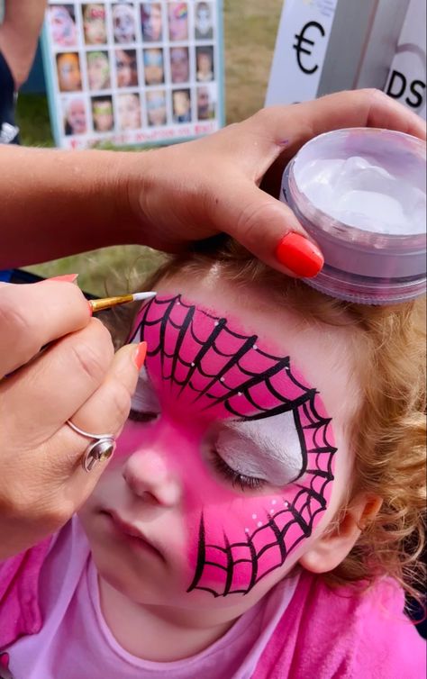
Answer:
M95 565L75 519L59 532L43 565L43 626L7 649L9 669L14 679L250 679L297 580L281 583L202 653L169 663L141 660L117 643L105 623Z

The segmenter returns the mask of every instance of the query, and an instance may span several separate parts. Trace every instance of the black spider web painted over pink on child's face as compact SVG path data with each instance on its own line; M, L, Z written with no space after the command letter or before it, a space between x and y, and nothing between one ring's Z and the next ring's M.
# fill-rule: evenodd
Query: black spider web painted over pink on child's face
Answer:
M196 313L203 313L212 321L204 336L198 334ZM172 340L168 337L168 346L167 330L168 336L173 337ZM240 421L293 412L303 465L293 482L299 490L292 502L283 499L281 507L276 504L266 507L264 516L257 517L261 520L257 528L246 529L245 539L233 543L225 532L222 545L209 543L204 515L200 519L195 575L187 592L204 590L214 597L247 594L263 577L282 566L302 539L311 535L315 517L326 508L325 489L333 479L332 459L336 452L328 440L331 420L317 412L314 403L317 391L295 378L289 357L277 358L262 351L256 344L256 335L248 337L233 332L226 319L196 310L194 305L184 303L181 295L151 300L142 310L132 339L138 333L141 340L150 337L148 356L159 360L161 376L177 390L177 397L190 389L194 393L191 405L201 412L209 411L213 405L222 406L224 414ZM228 351L222 346L224 338L225 344L231 345ZM184 340L186 346L193 343L191 357L181 355ZM258 369L245 360L252 351L257 351ZM215 358L215 373L204 367L208 354L211 363ZM150 373L150 361L147 370ZM284 376L285 390L293 393L293 398L281 393ZM266 394L265 389L268 391L268 407L257 403L259 388L262 394ZM304 484L297 483L301 476Z

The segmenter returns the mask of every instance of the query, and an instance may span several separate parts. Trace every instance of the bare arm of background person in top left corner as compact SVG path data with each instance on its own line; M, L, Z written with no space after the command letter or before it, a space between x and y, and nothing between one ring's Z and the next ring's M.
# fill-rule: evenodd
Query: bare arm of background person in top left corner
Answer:
M0 51L14 77L16 89L23 85L32 68L44 19L46 0L6 0L0 24Z

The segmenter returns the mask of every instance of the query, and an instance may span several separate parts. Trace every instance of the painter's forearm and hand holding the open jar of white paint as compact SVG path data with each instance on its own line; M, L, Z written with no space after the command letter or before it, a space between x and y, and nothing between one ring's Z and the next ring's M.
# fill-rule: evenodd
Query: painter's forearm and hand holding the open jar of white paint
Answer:
M286 263L277 260L286 234L304 231L259 185L271 168L278 195L274 180L305 141L359 126L425 137L417 115L359 90L264 109L202 140L144 153L0 146L0 268L124 243L177 249L221 231L285 273L302 275L293 257L304 260L307 248L320 268L322 256L303 238Z

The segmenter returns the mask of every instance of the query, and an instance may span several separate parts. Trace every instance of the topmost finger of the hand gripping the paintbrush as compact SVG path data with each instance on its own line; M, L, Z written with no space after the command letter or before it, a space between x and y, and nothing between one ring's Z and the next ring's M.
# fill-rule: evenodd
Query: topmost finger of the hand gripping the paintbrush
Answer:
M0 376L23 366L42 346L84 328L90 312L77 285L46 280L0 287Z

